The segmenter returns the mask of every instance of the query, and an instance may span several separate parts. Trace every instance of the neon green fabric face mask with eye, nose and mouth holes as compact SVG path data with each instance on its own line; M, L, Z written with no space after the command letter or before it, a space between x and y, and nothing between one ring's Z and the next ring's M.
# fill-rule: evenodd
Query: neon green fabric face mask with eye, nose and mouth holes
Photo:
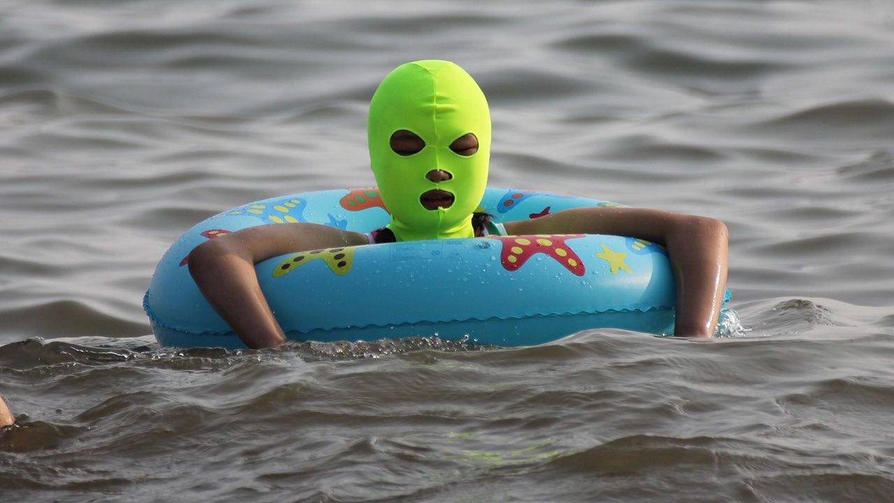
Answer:
M425 148L408 156L393 151L392 134L401 130L415 133ZM397 240L472 237L472 213L487 184L491 117L468 73L447 61L401 64L375 91L367 132L370 165ZM477 137L477 152L453 152L451 143L469 132ZM432 182L426 178L432 170L450 179ZM452 203L426 209L423 194L433 190L451 192Z

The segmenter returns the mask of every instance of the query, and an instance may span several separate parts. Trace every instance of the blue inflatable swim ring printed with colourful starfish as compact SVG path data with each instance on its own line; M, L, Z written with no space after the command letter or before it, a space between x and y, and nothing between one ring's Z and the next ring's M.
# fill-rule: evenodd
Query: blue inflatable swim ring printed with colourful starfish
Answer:
M488 188L496 222L602 200ZM304 192L224 211L164 254L144 298L162 346L245 347L190 277L199 243L249 227L313 222L367 233L389 222L375 189ZM291 253L257 264L276 319L293 340L441 337L539 345L587 328L670 334L674 283L667 252L614 235L485 236Z

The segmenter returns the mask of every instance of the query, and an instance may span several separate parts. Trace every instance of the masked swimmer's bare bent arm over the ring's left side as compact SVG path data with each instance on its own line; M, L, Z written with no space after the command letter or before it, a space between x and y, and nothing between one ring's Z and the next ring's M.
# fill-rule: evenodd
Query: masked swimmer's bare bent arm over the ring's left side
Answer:
M190 252L190 275L208 303L251 348L285 343L255 264L286 253L367 244L364 234L317 224L249 227L199 244Z

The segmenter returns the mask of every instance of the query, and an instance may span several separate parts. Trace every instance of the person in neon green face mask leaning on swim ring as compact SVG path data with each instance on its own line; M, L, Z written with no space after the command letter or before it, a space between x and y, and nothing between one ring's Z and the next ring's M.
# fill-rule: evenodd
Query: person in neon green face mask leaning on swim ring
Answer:
M388 241L491 234L619 234L667 247L676 282L674 334L711 337L726 288L728 234L713 218L654 209L578 208L490 224L473 215L491 146L484 93L445 61L402 64L375 91L367 124L370 166L391 223L370 234L316 224L256 226L209 240L189 258L209 303L253 348L286 342L257 285L254 264L291 252Z

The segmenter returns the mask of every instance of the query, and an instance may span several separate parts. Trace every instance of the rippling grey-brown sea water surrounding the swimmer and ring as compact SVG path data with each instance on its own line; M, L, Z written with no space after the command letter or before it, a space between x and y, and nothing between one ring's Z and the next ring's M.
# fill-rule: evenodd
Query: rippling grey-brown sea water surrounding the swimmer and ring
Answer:
M485 90L491 185L726 222L744 328L159 348L168 245L372 185L424 58ZM892 191L889 0L0 0L0 499L894 501Z

